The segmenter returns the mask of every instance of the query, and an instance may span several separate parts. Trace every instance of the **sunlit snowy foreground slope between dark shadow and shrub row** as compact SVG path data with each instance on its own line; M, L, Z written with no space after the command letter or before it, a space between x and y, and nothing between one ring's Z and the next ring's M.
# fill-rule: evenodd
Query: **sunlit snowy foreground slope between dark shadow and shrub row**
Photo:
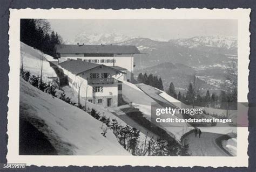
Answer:
M88 113L21 80L21 118L43 132L58 152L74 155L130 155L114 134L101 134L102 123ZM43 125L42 125L43 123Z

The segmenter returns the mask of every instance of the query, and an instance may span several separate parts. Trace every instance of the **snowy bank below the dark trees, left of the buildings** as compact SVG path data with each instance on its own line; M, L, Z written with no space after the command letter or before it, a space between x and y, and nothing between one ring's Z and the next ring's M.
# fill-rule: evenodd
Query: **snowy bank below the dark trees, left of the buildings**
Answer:
M41 58L43 58L43 80L47 82L48 77L57 77L49 63L49 61L56 61L56 59L21 42L21 61L23 61L23 68L29 70L31 75L41 75ZM22 65L22 62L20 65Z

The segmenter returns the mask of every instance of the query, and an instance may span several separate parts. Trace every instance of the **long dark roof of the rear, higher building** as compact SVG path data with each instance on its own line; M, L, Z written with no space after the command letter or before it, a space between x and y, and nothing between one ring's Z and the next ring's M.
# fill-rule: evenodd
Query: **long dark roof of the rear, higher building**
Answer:
M131 45L56 45L56 53L140 54Z

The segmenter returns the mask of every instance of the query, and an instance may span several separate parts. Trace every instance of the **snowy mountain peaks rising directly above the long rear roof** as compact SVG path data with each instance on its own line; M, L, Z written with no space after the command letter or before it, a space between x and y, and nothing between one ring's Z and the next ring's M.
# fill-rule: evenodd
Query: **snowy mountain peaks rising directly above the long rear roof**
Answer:
M116 42L122 42L131 39L124 34L118 33L95 33L95 34L86 34L79 33L76 35L73 41L67 42L68 44L91 44L91 45L100 45L100 44L114 44Z

